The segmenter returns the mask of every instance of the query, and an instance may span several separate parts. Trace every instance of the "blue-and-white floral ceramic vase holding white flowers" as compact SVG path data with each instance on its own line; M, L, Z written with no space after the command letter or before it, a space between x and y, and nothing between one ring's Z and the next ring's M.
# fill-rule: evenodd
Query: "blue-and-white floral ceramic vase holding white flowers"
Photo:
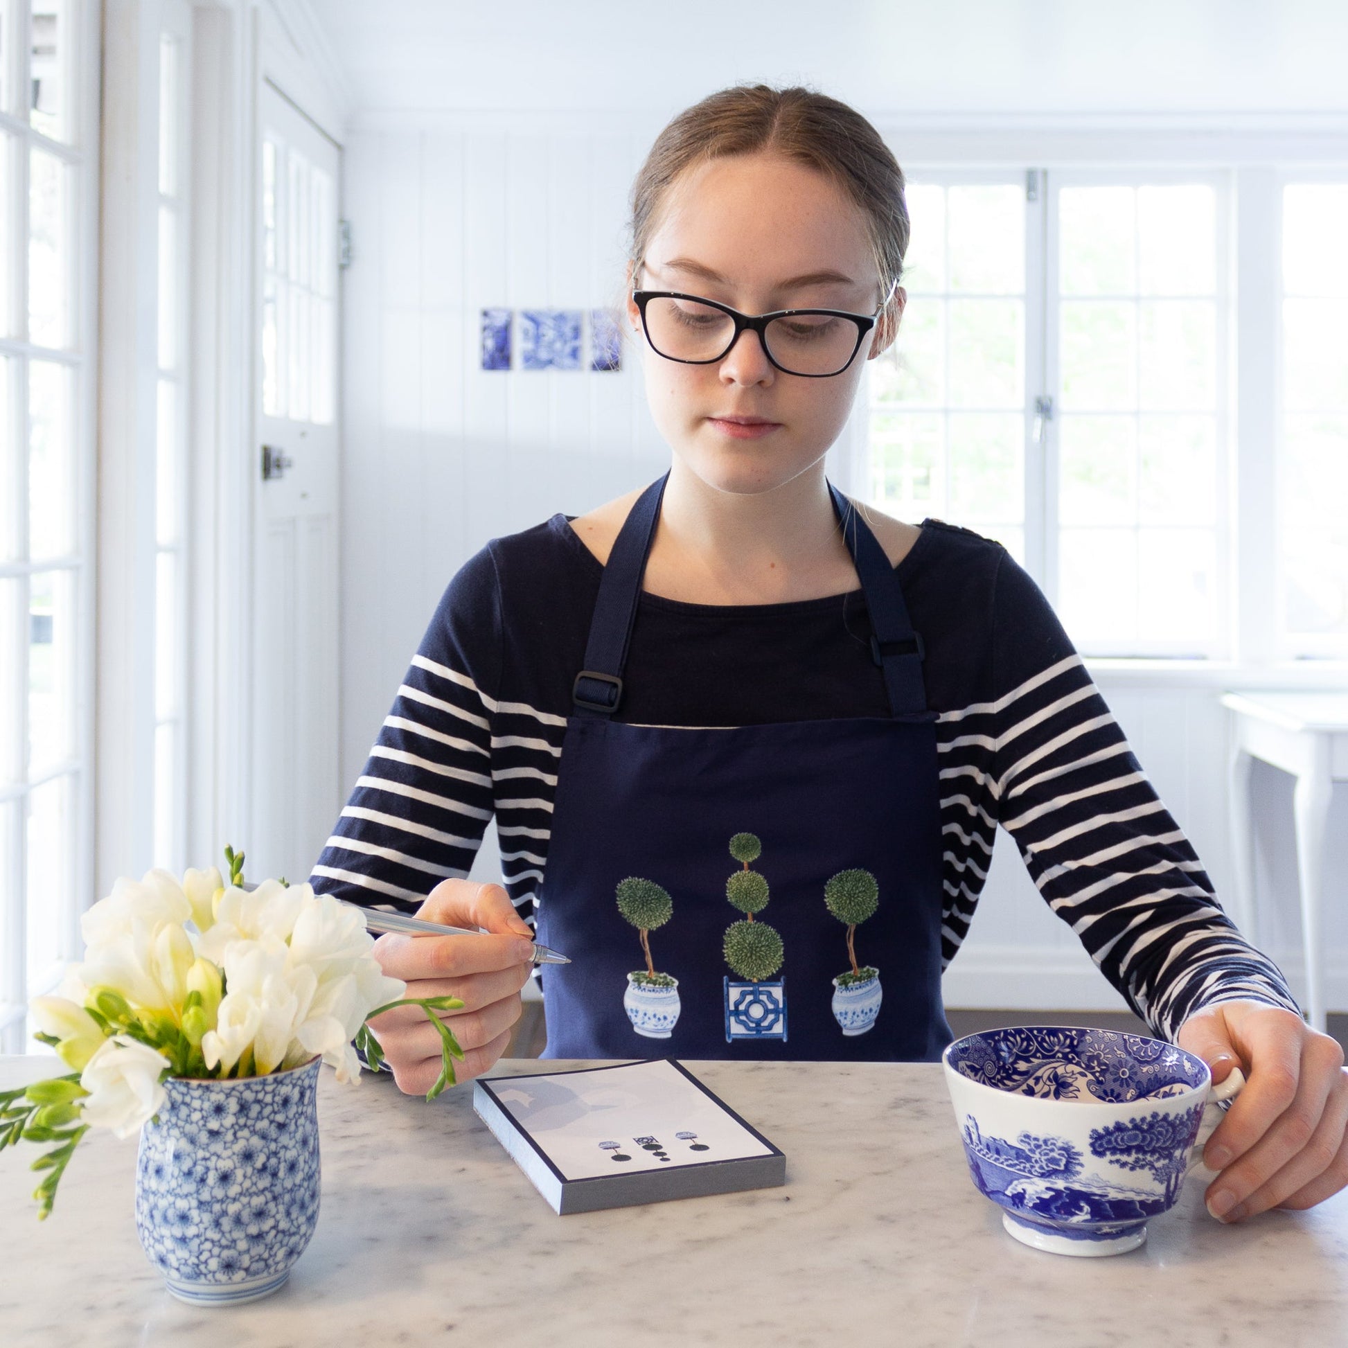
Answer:
M276 1291L318 1224L318 1058L237 1081L168 1077L140 1130L136 1233L194 1305Z

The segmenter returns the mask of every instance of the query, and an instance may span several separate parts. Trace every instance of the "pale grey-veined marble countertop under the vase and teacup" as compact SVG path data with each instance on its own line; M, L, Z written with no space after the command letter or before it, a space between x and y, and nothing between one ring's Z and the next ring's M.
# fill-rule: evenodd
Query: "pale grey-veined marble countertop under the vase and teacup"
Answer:
M1198 1171L1140 1250L1068 1259L1014 1242L973 1188L938 1065L686 1066L786 1153L783 1188L558 1217L470 1084L427 1105L325 1069L318 1229L287 1286L241 1306L164 1291L132 1220L135 1140L90 1132L46 1223L38 1148L0 1153L0 1343L1348 1344L1348 1193L1225 1227ZM0 1060L0 1081L20 1070Z

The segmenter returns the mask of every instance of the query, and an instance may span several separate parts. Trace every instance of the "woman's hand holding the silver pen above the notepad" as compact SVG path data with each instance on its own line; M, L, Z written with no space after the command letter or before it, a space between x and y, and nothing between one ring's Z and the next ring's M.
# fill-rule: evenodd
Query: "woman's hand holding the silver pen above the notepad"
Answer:
M528 981L534 933L499 884L441 880L417 917L446 926L487 927L492 936L403 936L384 933L373 953L384 973L407 984L404 998L454 996L461 1007L433 1012L453 1031L462 1058L457 1081L481 1076L506 1051L511 1026L524 1011L519 989ZM426 1095L441 1072L441 1038L425 1007L394 1007L369 1022L399 1091Z

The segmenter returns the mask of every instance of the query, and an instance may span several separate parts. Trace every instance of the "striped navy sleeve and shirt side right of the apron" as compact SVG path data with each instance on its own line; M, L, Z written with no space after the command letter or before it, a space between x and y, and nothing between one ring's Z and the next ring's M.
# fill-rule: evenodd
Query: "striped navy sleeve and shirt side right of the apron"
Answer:
M946 961L968 931L995 826L1128 1006L1173 1039L1194 1011L1250 998L1299 1008L1236 930L1034 581L1004 557L992 701L940 721Z

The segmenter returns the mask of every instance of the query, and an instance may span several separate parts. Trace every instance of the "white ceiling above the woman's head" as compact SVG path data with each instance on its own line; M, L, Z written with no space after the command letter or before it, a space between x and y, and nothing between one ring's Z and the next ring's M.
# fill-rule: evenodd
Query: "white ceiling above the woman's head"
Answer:
M667 116L741 80L868 115L1344 112L1344 0L307 0L371 111ZM310 30L313 31L313 30Z

